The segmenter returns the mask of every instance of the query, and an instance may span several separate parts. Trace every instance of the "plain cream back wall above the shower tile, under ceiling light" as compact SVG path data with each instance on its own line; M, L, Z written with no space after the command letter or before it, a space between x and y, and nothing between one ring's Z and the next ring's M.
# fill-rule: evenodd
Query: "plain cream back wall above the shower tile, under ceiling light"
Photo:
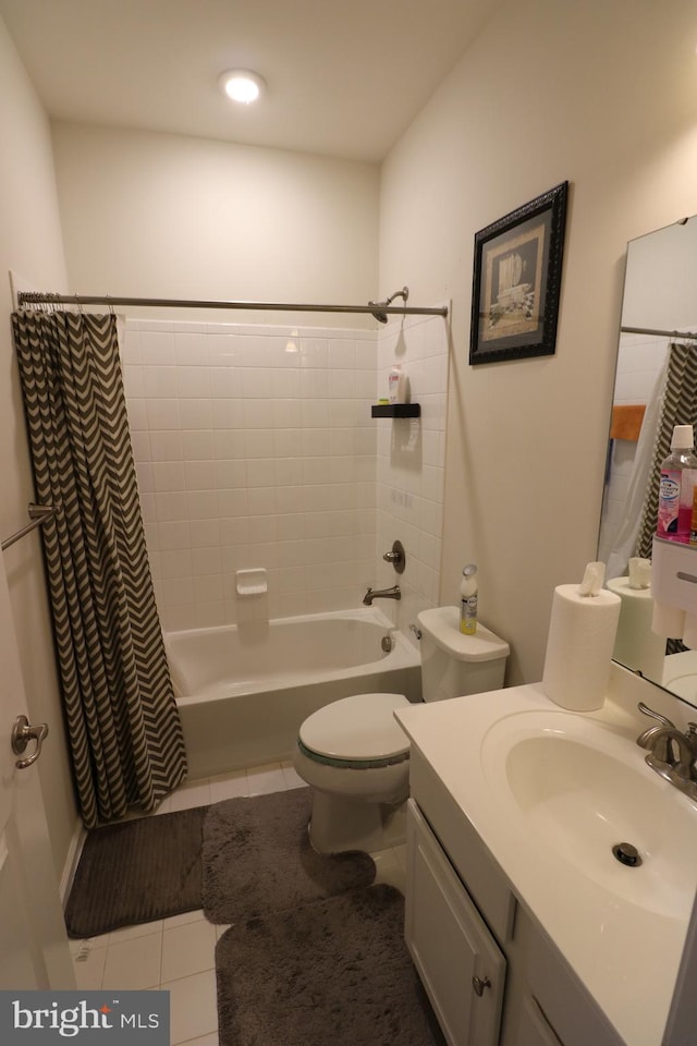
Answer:
M321 304L376 295L375 165L65 123L53 141L71 291ZM260 315L289 323L227 318Z

